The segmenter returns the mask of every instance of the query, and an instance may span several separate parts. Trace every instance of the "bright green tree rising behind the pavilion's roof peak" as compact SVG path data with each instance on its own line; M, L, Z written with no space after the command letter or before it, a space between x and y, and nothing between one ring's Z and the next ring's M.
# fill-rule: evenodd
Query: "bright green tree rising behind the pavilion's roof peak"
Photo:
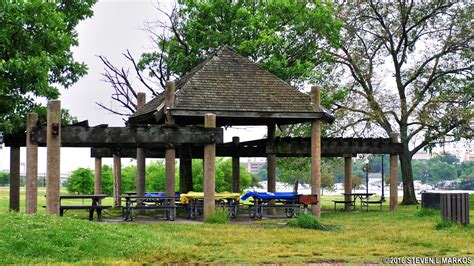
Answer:
M297 87L320 80L331 63L323 45L336 45L339 22L331 4L319 1L178 1L171 12L157 8L166 21L148 22L145 27L156 51L145 53L139 62L127 51L129 69L115 67L107 58L104 80L112 85L112 99L119 109L98 103L106 110L130 115L136 110L138 86L156 96L166 81L179 78L227 44L264 69ZM331 95L331 97L329 97ZM323 101L340 97L338 89L327 91Z

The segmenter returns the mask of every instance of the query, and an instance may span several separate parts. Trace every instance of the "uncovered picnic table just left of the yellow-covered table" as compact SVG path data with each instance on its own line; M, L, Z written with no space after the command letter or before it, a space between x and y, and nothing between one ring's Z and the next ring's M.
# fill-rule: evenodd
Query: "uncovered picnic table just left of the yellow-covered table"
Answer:
M133 221L135 210L164 211L164 219L170 221L176 219L176 200L179 199L179 194L168 197L163 192L145 193L143 196L137 196L136 193L127 193L122 195L122 198L125 199L125 206L122 207L122 215L125 221Z

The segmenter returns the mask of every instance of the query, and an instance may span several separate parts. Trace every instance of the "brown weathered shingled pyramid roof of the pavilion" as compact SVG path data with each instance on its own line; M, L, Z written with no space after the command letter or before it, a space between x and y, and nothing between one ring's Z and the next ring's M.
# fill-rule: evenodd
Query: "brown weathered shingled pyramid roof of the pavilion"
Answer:
M160 94L134 113L129 123L157 123L163 112ZM177 123L202 123L205 113L215 113L218 125L291 124L334 117L316 109L302 93L262 69L228 46L223 46L176 83L174 107ZM157 115L158 114L158 115Z

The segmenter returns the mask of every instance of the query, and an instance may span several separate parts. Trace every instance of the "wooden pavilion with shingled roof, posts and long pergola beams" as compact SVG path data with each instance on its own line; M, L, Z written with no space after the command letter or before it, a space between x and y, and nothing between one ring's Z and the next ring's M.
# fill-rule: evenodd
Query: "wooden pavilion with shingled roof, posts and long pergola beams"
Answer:
M192 190L192 158L204 158L204 214L214 209L215 157L233 158L233 190L240 191L239 157L267 157L268 191L275 192L276 156L310 156L312 193L319 197L321 175L320 159L324 156L345 157L346 190L351 188L351 158L357 153L391 154L391 209L396 208L396 155L401 151L396 135L392 139L341 139L326 138L321 141L321 122L332 123L333 115L320 106L319 88L312 87L311 96L304 94L275 75L262 69L248 58L239 55L228 46L223 46L203 63L196 66L176 83L168 82L165 92L145 104L144 94L139 95L139 109L128 120L126 127L110 128L106 125L90 128L86 123L61 128L58 119L54 121L58 106L51 106L51 121L46 128L38 127L34 115L30 116L28 132L7 140L12 147L12 159L20 146L28 143L29 151L38 145L48 146L48 180L55 180L58 171L59 147L91 147L91 155L96 159L96 190L101 192L101 158L114 157L114 168L120 169L121 157L137 158L137 194L145 193L145 158L166 159L166 193L174 195L175 159L180 158L180 190ZM57 101L56 101L57 102ZM56 105L58 105L56 103ZM54 111L54 110L55 111ZM311 138L275 138L277 125L310 122ZM264 125L268 127L267 139L239 142L238 137L231 143L223 142L221 126ZM58 133L59 131L59 133ZM62 132L62 133L61 133ZM54 135L56 133L56 135ZM53 143L50 145L50 143ZM54 144L55 143L55 144ZM54 146L56 145L56 146ZM50 146L56 147L51 148ZM18 149L18 151L16 151ZM33 152L34 153L34 152ZM50 156L51 153L51 156ZM31 154L31 152L29 152ZM36 161L28 155L28 190L33 191ZM15 157L16 158L16 157ZM36 158L37 160L37 158ZM12 167L16 159L12 160ZM19 164L19 162L18 162ZM30 170L31 168L31 170ZM51 168L51 169L52 169ZM393 170L395 169L395 170ZM115 173L114 198L120 204L120 178ZM28 182L30 180L30 182ZM50 183L48 204L50 213L56 213L58 184ZM30 184L30 186L28 185ZM17 189L14 188L15 193ZM30 195L32 193L29 193ZM34 194L34 193L33 193ZM15 202L16 194L13 195ZM392 202L393 201L393 202ZM33 204L33 203L31 203ZM47 204L47 205L48 205ZM392 206L393 205L393 206ZM28 209L28 203L27 203ZM315 215L320 215L319 204L313 206Z

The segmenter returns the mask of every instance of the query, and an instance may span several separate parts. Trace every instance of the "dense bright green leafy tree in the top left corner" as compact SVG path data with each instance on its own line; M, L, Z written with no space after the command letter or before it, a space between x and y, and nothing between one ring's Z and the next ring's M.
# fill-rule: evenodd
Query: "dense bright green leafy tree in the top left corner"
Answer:
M24 130L37 99L55 99L86 74L74 60L75 27L95 0L0 1L0 131Z

